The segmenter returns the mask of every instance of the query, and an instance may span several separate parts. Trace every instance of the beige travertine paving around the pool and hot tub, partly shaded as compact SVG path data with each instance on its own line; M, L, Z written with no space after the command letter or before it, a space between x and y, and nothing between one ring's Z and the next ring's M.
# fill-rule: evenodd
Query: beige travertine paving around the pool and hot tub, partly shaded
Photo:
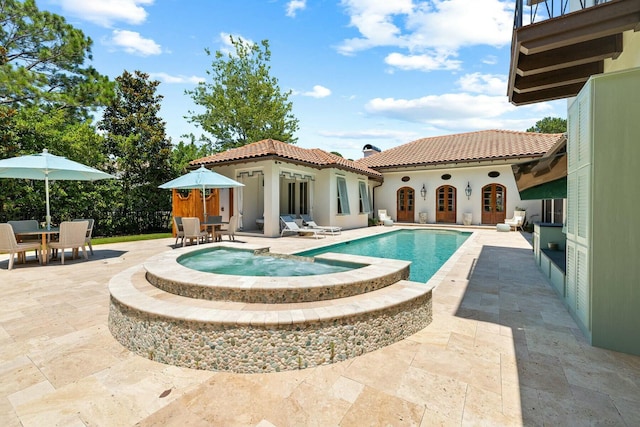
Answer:
M316 240L237 235L294 253ZM469 228L472 230L473 228ZM108 283L174 239L7 271L0 255L4 426L640 425L640 357L589 346L526 233L478 229L432 279L433 322L333 365L231 374L163 365L109 333Z

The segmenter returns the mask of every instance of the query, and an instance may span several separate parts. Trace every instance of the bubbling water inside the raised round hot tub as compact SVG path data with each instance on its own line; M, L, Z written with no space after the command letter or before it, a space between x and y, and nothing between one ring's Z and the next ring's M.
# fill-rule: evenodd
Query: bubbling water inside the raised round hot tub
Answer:
M359 264L315 262L255 255L252 251L232 249L206 249L178 258L181 265L206 273L235 276L314 276L340 273L362 267Z

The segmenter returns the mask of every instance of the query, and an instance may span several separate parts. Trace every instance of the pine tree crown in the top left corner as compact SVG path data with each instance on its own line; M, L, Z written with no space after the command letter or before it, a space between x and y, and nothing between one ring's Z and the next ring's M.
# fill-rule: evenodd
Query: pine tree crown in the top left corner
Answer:
M34 0L0 1L0 106L55 108L104 105L111 83L93 67L90 38ZM5 114L6 114L5 110Z

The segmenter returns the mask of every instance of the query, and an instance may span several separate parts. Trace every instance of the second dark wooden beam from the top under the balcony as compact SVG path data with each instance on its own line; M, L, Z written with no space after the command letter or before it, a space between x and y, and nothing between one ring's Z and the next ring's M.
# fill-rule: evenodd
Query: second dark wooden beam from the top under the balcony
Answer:
M575 67L606 58L615 58L622 53L622 34L552 49L535 55L519 55L516 73L529 76L562 68Z

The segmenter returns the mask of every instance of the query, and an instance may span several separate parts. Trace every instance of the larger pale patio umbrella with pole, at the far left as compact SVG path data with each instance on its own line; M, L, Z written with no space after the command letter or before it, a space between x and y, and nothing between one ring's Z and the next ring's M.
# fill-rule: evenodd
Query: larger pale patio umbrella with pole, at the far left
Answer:
M0 178L23 178L44 180L47 205L47 229L51 228L49 212L49 180L58 181L96 181L117 177L98 169L74 162L66 157L49 154L45 148L42 153L12 157L0 160Z

